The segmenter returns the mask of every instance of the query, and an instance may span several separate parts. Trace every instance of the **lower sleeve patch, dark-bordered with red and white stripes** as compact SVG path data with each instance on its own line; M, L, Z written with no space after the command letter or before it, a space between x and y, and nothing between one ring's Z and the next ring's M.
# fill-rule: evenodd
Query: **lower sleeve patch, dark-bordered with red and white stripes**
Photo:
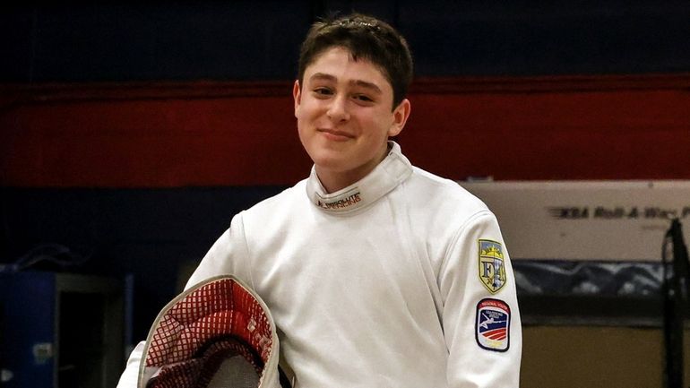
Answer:
M475 329L477 344L482 349L507 350L510 346L510 307L503 300L482 299L477 304Z

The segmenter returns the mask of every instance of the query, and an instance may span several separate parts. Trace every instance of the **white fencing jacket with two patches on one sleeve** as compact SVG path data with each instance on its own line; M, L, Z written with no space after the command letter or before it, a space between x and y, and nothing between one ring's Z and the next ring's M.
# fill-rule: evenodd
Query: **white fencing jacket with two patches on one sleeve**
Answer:
M220 274L270 308L296 388L519 385L520 313L494 214L394 142L339 192L312 169L238 213L187 287ZM135 386L127 373L120 387Z

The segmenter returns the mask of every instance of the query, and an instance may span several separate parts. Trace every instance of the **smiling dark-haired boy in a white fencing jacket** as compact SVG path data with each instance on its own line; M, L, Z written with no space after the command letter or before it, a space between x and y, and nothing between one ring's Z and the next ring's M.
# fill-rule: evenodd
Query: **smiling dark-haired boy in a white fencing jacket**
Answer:
M187 284L229 273L254 289L298 388L519 385L520 315L496 218L389 140L410 116L411 77L388 24L315 23L293 88L311 175L237 214Z

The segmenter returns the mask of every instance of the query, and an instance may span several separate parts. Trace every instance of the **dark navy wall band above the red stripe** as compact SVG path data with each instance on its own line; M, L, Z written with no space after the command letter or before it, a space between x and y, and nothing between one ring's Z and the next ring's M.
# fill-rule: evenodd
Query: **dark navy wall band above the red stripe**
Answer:
M410 41L418 76L690 68L686 1L199 1L3 5L0 81L290 80L315 18L357 10Z

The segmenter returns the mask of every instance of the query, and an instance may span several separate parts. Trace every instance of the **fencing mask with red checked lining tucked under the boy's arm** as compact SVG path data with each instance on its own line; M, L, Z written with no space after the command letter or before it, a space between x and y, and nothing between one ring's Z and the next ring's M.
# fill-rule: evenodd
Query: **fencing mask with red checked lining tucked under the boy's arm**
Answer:
M280 388L268 307L232 276L203 280L163 307L146 339L138 388Z

